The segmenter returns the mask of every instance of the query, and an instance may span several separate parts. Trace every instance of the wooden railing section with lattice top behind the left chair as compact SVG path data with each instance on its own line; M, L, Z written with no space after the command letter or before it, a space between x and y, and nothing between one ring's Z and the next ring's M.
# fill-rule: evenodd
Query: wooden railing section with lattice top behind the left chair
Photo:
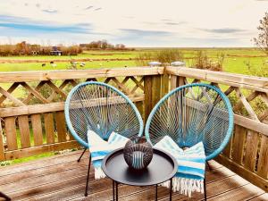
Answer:
M143 114L144 82L159 74L163 68L1 73L0 161L78 147L63 113L65 98L78 83L99 80L120 88Z

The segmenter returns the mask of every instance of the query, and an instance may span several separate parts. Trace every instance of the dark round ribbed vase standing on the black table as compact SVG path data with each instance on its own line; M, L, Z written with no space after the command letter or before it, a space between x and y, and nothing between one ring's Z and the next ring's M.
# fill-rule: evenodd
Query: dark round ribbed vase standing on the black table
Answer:
M153 158L153 148L143 137L130 138L123 153L126 163L134 170L147 168Z

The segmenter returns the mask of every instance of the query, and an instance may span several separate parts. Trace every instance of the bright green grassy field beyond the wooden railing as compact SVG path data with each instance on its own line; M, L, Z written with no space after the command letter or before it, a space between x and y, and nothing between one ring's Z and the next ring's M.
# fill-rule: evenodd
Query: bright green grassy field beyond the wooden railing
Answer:
M69 61L80 59L104 59L105 61L85 62L84 67L77 64L77 69L96 69L96 68L115 68L115 67L131 67L137 66L135 61L138 54L144 52L154 52L159 49L138 48L135 51L85 51L83 54L76 56L7 56L0 57L0 71L50 71L50 70L66 70L71 66ZM199 50L205 51L209 58L214 60L217 55L224 54L223 71L251 74L252 70L267 67L268 57L264 53L253 48L182 48L180 52L184 56L184 61L187 66L193 66L195 63L194 57L197 56ZM54 62L56 66L50 64L54 60L68 60L64 62ZM109 61L110 59L131 59L130 61ZM21 63L23 60L32 60L34 63ZM40 60L40 61L38 61ZM46 63L42 67L42 63ZM250 69L250 70L249 70Z

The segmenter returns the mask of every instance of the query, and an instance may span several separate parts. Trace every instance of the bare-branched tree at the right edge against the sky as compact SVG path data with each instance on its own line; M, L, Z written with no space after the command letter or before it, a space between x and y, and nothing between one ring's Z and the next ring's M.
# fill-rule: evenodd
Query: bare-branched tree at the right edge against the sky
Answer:
M268 13L265 13L264 18L260 20L260 25L257 29L259 34L256 38L253 38L255 45L268 55Z

